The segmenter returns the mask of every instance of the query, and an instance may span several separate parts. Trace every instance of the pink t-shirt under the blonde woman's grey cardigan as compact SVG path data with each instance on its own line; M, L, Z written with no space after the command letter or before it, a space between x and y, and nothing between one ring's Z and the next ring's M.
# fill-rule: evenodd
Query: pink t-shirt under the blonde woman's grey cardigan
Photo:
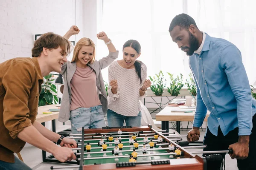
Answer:
M76 67L71 82L71 106L70 111L77 108L90 108L102 105L97 94L96 73L87 68Z

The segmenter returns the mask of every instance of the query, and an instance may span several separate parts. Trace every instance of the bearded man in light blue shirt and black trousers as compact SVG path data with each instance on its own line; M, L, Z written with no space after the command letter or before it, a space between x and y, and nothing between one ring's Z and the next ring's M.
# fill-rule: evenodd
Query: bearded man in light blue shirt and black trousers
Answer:
M256 168L256 100L251 96L241 52L231 42L201 32L187 14L171 22L172 40L189 56L189 65L197 86L197 105L189 142L199 139L199 127L210 111L204 136L204 150L231 148L239 170ZM225 154L222 154L224 157ZM207 170L215 170L222 161L208 161Z

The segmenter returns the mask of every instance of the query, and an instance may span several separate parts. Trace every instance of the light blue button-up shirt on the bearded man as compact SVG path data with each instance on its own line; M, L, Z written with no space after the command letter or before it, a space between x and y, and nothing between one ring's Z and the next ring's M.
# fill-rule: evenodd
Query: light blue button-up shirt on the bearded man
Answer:
M197 86L197 105L193 126L201 127L210 111L208 128L218 135L239 127L239 136L250 135L256 100L251 96L241 52L231 42L210 37L200 55L189 57L189 64Z

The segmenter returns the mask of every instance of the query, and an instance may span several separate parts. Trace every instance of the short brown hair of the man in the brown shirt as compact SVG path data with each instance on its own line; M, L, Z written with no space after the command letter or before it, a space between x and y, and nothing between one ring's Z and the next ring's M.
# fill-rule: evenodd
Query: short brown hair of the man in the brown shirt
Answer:
M57 49L59 47L62 51L67 52L67 56L72 51L72 45L67 39L52 32L45 33L38 40L35 40L34 47L32 48L32 57L39 57L43 48Z

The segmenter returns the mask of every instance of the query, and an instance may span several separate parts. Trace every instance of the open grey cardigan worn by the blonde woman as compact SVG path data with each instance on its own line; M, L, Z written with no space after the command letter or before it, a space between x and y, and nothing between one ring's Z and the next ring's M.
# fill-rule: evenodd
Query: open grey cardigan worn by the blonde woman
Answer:
M117 57L119 51L109 52L107 57L100 59L99 61L95 60L93 64L88 64L96 73L96 86L97 93L99 95L99 100L102 104L102 110L106 114L108 111L108 99L105 91L105 85L102 78L101 70L108 67ZM70 81L73 75L76 72L76 62L66 62L62 65L61 74L64 78L64 89L63 96L61 101L61 109L58 116L58 121L66 122L70 119L70 104L71 104L71 86ZM99 94L99 91L101 94Z

